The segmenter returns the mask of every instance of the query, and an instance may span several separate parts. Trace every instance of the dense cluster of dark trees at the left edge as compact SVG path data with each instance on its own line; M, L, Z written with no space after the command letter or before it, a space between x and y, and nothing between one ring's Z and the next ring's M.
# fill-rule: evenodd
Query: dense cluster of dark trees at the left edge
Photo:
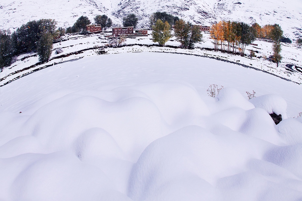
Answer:
M53 47L53 39L65 34L62 27L56 29L56 21L41 19L29 21L16 31L0 30L0 67L10 65L13 57L26 52L37 52L39 61L48 61Z

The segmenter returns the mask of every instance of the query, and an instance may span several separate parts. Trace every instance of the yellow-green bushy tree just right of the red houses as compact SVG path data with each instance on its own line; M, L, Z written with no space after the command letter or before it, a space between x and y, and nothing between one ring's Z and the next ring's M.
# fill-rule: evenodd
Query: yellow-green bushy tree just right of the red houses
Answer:
M170 25L167 21L163 23L162 20L159 19L152 28L152 40L153 42L158 42L161 46L165 45L165 42L172 37Z

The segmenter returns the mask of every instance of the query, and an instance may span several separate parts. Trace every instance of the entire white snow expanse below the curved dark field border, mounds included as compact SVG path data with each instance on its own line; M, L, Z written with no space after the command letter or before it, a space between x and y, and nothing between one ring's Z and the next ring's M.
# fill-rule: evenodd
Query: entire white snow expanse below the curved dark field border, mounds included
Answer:
M224 86L215 98L213 83ZM302 199L297 83L194 55L125 52L0 89L0 200ZM288 118L275 125L270 110Z

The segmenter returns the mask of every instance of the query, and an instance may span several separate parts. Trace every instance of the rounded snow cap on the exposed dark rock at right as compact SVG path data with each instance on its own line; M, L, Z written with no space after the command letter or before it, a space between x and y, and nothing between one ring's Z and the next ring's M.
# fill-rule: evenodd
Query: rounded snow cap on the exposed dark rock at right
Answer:
M275 112L276 115L281 115L282 119L287 119L286 101L274 94L266 94L263 96L258 96L249 100L256 108L262 108L268 112L268 114L272 114Z

